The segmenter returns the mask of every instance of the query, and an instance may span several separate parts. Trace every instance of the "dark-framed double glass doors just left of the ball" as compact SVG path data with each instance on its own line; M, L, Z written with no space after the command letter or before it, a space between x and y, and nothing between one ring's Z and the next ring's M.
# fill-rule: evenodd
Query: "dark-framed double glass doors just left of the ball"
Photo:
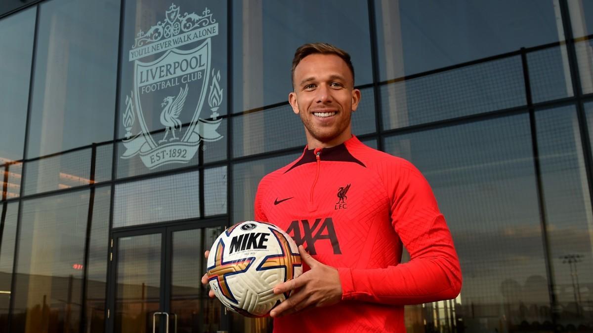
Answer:
M114 232L109 330L113 333L226 331L220 302L200 279L203 253L224 226L189 225Z

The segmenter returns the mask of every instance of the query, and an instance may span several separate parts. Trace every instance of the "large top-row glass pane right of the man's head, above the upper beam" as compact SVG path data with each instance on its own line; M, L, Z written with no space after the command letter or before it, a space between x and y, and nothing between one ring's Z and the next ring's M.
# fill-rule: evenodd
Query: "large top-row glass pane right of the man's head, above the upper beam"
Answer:
M381 81L564 39L556 1L379 0L375 17Z

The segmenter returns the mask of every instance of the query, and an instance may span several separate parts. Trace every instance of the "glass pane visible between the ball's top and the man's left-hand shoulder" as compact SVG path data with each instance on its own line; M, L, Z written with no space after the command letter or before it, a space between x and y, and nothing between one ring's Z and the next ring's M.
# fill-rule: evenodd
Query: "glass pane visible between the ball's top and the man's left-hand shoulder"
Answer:
M270 172L294 161L299 155L301 153L292 153L233 165L231 213L234 223L253 220L253 200L256 198L259 181Z

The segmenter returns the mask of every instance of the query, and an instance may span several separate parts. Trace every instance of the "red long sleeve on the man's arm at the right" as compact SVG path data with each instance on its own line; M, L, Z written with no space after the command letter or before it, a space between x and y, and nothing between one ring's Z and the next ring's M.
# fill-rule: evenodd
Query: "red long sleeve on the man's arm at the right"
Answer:
M391 223L410 261L387 268L339 268L342 298L412 305L456 297L459 260L428 182L407 161L386 167L382 178L391 200Z

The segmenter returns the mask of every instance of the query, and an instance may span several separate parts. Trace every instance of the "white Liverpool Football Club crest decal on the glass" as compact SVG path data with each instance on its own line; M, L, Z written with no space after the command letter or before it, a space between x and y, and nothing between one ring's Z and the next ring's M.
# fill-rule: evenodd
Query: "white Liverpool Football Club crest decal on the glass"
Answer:
M122 113L121 158L139 155L149 169L187 163L203 141L221 139L217 111L224 89L220 71L211 68L216 35L218 23L208 8L202 15L181 15L174 4L163 21L138 33L129 51L134 76ZM209 117L201 116L204 112Z

